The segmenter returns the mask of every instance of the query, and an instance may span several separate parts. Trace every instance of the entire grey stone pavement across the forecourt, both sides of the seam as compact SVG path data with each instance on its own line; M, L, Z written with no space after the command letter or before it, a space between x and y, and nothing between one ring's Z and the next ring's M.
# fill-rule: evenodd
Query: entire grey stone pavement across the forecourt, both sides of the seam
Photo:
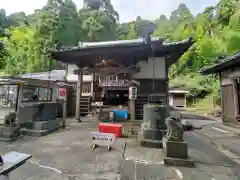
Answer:
M195 123L211 124L208 121ZM202 130L185 133L189 155L196 161L196 167L167 167L162 163L160 150L140 147L136 139L118 139L110 152L105 148L93 151L90 132L97 130L97 124L94 118L89 117L82 123L72 121L70 129L45 137L0 143L0 153L16 150L33 155L11 174L11 180L240 179L239 164L209 143L207 137L200 133Z

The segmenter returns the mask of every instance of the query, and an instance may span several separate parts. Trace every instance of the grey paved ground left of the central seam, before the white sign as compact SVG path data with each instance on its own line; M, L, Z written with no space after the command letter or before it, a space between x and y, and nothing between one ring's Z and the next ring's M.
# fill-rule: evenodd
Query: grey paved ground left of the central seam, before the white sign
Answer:
M0 143L0 153L10 150L33 157L11 173L11 180L114 180L118 178L125 139L119 139L112 151L92 150L91 131L97 122L74 122L70 129L40 138L25 138L11 144Z

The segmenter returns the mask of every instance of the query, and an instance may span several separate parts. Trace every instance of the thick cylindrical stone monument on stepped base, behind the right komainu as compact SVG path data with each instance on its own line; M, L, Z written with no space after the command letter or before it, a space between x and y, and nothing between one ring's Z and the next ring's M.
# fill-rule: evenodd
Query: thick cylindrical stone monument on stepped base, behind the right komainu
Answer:
M162 138L166 134L165 119L168 107L157 104L146 104L143 107L143 123L138 132L141 146L162 148Z

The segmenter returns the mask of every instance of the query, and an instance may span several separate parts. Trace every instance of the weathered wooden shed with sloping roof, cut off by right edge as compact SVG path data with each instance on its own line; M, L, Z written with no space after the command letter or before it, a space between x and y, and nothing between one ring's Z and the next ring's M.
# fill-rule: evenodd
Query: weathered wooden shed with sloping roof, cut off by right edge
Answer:
M201 70L220 78L222 121L240 124L240 53Z

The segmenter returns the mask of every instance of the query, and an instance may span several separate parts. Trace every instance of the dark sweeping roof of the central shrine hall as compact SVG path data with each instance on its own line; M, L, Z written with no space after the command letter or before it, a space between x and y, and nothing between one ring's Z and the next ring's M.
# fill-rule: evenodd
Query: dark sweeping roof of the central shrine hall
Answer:
M193 43L192 38L172 43L163 43L161 39L154 39L152 41L153 56L161 57L178 54L176 57L180 57L191 47ZM127 44L115 43L111 46L86 46L83 48L62 49L51 52L52 59L65 63L77 64L78 66L83 66L83 64L86 64L86 66L94 66L96 63L90 62L90 60L95 59L96 56L116 59L121 62L123 61L123 64L125 65L129 65L132 63L136 64L140 60L146 60L147 57L150 56L150 52L149 45L147 45L144 41L141 41L141 43L128 42ZM127 61L124 60L126 57Z

